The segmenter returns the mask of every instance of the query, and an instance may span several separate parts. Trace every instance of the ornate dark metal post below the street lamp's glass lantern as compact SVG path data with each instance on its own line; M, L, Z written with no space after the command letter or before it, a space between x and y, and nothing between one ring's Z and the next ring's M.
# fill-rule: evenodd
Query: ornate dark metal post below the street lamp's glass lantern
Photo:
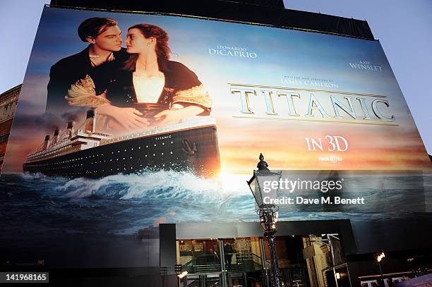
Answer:
M277 231L276 226L273 224L274 211L271 208L260 208L258 210L261 218L261 222L264 224L264 236L267 238L268 247L270 249L270 264L272 266L272 286L281 287L280 283L280 271L277 266L277 255L276 255L276 243L275 233Z

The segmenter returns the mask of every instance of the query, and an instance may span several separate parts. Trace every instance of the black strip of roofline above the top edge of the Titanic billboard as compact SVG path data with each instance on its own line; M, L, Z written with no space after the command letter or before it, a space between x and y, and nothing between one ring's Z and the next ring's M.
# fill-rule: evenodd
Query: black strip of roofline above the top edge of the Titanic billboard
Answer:
M176 16L195 16L270 25L277 28L322 32L361 39L374 39L366 20L234 1L52 0L50 6L59 8L102 9L114 12L170 13Z

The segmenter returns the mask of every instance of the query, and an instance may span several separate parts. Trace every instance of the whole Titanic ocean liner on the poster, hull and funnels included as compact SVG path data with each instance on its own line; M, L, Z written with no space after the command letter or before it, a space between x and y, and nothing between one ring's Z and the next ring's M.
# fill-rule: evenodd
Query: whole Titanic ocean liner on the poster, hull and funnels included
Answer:
M89 110L84 126L75 130L69 121L63 132L56 129L52 138L45 136L43 144L25 158L24 173L100 178L164 169L208 178L220 171L212 118L113 136L95 130L95 111Z

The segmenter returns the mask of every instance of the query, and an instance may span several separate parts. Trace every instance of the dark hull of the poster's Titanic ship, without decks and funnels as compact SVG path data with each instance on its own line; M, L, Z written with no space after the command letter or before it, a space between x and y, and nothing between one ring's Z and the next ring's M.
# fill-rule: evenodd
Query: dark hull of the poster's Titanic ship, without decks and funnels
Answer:
M143 171L188 171L212 177L220 171L215 125L114 141L70 154L26 161L24 173L100 178Z

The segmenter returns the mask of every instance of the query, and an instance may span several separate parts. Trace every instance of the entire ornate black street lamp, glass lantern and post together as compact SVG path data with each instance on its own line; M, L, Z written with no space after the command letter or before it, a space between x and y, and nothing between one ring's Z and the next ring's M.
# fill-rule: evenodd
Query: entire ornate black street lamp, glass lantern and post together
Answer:
M270 171L267 162L264 161L263 154L260 154L260 161L256 166L258 170L253 171L252 178L248 181L249 188L253 197L258 204L256 213L260 216L260 225L264 229L264 236L267 238L268 247L270 249L270 263L272 266L272 287L281 287L280 272L277 266L276 256L276 221L279 207L275 204L269 204L270 198L277 197L279 190L279 181L282 176L282 171ZM271 183L277 182L277 188Z

